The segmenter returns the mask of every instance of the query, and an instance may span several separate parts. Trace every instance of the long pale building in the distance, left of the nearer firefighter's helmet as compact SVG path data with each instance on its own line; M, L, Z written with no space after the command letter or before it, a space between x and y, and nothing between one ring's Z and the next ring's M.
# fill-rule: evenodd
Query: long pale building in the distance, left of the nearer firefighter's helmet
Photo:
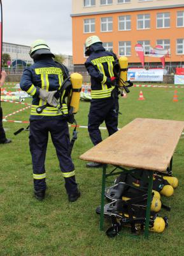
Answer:
M33 60L29 56L30 46L10 44L3 42L3 53L8 53L11 58L11 63L17 60L25 61L26 64L32 64Z

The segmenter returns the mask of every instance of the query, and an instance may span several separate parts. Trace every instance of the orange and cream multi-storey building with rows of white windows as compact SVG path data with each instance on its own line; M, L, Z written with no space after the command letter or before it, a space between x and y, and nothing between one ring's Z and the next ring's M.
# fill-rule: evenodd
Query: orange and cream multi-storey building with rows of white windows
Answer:
M150 65L161 65L159 58L146 56L158 44L169 50L166 65L184 63L184 0L73 0L71 17L75 70L85 70L85 40L91 35L118 57L127 56L132 66L140 65L138 43Z

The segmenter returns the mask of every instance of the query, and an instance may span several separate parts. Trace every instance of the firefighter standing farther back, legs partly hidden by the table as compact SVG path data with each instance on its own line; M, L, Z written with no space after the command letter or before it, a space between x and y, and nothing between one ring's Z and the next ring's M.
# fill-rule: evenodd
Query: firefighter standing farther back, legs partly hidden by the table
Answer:
M88 132L94 145L102 141L99 126L105 122L109 136L118 131L118 88L114 74L117 56L106 51L98 36L90 36L85 42L85 62L91 80L91 103L88 114ZM87 167L100 167L99 163L87 163Z

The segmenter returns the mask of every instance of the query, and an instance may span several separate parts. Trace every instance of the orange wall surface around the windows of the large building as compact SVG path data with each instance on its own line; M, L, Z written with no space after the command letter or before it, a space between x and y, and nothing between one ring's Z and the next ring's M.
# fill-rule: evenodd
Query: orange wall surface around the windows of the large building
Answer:
M150 46L155 47L157 40L170 39L171 58L166 58L166 61L181 61L182 55L176 54L176 39L184 38L184 28L176 28L176 17L178 11L184 11L184 8L168 8L159 10L146 10L139 12L124 12L124 13L107 13L101 15L86 15L81 17L73 17L73 63L83 64L86 58L83 54L83 45L88 36L97 35L103 42L113 42L113 51L118 55L118 42L131 41L131 56L128 56L129 62L140 62L134 46L138 40L150 40ZM170 13L170 28L157 29L157 13ZM150 14L150 29L137 30L137 15ZM118 31L118 16L131 15L131 31ZM101 17L113 17L113 31L101 32ZM95 19L96 32L83 33L83 20ZM160 62L159 58L145 56L145 62Z

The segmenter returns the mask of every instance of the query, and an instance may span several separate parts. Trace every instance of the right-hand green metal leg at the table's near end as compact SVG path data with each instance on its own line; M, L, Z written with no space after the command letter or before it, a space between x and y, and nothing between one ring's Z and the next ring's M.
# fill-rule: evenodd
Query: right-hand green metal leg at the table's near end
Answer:
M147 207L146 207L146 223L145 223L145 237L148 238L149 234L149 221L150 221L150 209L152 203L152 188L153 188L153 172L150 171L149 173L149 183L148 183L148 200L147 200Z

